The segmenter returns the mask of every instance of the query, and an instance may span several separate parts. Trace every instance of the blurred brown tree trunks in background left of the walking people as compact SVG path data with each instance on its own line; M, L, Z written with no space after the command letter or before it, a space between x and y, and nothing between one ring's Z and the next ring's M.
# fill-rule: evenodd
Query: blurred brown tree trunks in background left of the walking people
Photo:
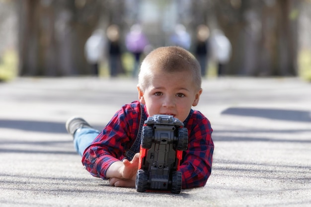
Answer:
M101 1L17 1L19 74L90 74L84 44L97 25Z

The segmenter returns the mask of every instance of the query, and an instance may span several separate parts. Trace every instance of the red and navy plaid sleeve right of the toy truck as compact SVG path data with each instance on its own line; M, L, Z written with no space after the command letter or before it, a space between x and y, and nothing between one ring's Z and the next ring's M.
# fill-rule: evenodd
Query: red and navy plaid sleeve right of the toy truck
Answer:
M212 172L214 143L209 120L200 113L192 114L187 125L189 141L179 170L182 188L205 186Z

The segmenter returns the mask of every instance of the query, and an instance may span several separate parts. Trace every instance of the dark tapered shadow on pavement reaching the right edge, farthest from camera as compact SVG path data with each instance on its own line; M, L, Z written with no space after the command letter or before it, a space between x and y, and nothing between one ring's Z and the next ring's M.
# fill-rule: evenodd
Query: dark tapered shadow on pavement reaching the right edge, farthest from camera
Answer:
M310 111L284 110L284 109L261 109L261 108L228 108L221 114L238 115L247 117L261 117L293 122L311 122Z

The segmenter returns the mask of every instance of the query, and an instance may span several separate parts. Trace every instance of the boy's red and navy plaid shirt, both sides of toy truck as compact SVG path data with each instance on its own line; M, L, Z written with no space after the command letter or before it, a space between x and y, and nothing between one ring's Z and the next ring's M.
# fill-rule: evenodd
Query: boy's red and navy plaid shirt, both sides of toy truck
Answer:
M143 109L143 119L146 120L146 107ZM126 158L126 150L130 149L139 133L140 117L139 101L126 104L117 111L104 130L85 149L82 163L86 170L95 177L106 179L108 167ZM209 120L201 112L192 109L184 126L188 129L189 141L179 167L182 188L201 187L206 184L212 171L213 130Z

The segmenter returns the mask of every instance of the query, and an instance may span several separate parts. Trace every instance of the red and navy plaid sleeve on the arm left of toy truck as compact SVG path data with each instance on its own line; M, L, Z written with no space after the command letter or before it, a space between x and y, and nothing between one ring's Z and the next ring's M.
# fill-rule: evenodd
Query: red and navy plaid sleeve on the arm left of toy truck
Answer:
M125 158L124 152L137 134L137 119L138 113L133 104L123 106L85 149L82 164L91 175L107 179L110 165Z

